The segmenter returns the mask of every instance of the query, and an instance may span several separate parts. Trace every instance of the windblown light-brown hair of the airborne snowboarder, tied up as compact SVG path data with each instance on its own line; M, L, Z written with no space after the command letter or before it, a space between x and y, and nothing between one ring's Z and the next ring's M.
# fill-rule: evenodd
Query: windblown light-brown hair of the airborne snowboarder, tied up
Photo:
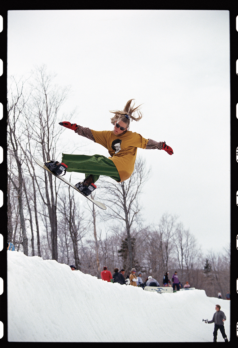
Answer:
M129 129L130 121L133 121L133 120L139 121L143 117L142 112L139 111L140 106L142 104L136 106L135 108L134 107L135 103L133 105L130 105L133 100L134 99L128 100L123 110L113 110L113 111L109 110L110 112L114 113L114 116L111 118L111 123L113 125L117 121L122 121L128 126L128 129ZM137 114L137 117L136 117L136 114Z

